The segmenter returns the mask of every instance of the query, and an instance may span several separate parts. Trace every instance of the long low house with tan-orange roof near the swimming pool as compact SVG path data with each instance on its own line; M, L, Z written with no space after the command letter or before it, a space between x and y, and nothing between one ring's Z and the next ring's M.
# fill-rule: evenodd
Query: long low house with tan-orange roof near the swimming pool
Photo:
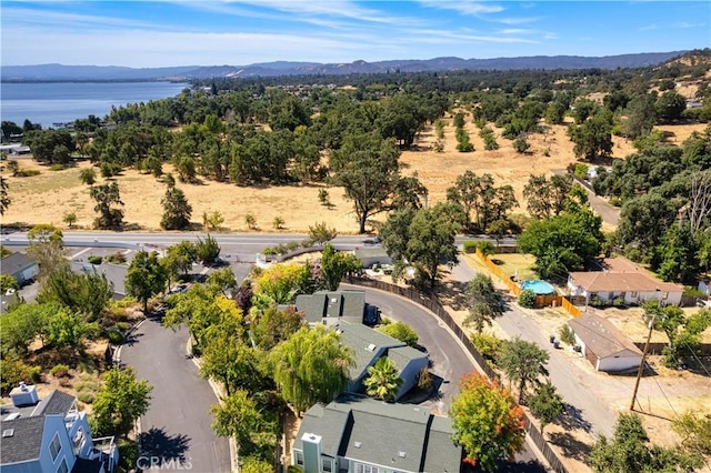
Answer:
M592 296L605 303L611 303L617 298L622 298L625 304L639 304L650 300L672 305L681 303L683 285L663 282L622 258L608 261L614 261L608 271L569 273L570 295L584 298L585 303L589 303Z

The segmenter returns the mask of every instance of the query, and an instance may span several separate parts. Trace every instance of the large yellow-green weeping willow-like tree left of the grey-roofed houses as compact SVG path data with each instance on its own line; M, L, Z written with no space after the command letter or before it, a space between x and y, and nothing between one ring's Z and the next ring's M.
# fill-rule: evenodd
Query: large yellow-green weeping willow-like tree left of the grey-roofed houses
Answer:
M271 352L274 382L297 412L328 403L348 386L350 349L323 325L303 326Z

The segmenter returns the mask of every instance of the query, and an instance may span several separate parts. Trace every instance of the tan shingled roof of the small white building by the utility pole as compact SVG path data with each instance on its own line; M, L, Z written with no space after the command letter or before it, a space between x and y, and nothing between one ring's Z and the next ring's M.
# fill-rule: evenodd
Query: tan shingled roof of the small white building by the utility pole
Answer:
M640 349L610 321L592 313L571 319L568 324L599 359L614 356L622 352L642 355Z

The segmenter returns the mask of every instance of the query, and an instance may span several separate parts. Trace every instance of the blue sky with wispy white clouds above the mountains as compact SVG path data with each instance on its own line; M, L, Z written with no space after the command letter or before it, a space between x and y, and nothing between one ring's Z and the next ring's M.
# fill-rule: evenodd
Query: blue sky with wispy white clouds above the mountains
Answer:
M6 1L3 66L610 56L711 47L707 1Z

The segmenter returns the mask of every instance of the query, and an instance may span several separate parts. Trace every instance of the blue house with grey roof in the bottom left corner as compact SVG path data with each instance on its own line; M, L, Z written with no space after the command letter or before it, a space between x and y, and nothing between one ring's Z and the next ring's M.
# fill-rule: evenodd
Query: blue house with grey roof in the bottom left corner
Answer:
M3 473L112 472L119 460L113 437L93 439L77 399L53 391L40 400L20 384L2 406L0 470Z

